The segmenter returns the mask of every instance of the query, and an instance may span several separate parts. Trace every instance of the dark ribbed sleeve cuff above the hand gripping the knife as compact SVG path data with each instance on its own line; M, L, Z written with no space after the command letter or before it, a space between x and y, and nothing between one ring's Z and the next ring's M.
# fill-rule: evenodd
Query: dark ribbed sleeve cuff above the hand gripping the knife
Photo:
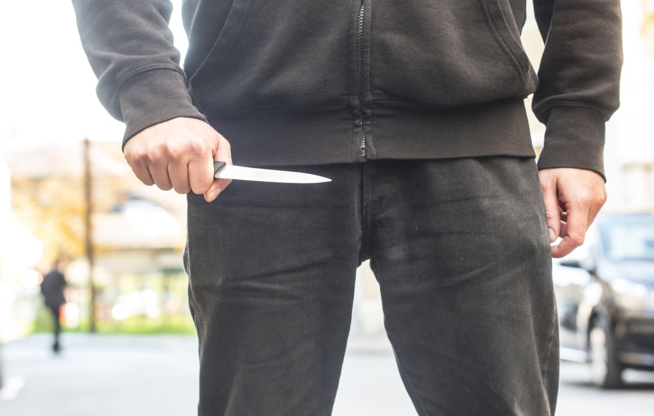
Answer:
M182 74L171 69L152 69L130 78L118 99L126 124L123 148L133 135L154 124L176 117L207 120L192 105Z

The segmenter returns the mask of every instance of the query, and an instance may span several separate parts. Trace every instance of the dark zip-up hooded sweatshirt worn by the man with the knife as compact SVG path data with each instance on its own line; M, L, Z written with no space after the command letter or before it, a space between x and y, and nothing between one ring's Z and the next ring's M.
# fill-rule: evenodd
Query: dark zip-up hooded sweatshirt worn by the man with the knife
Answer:
M538 165L603 175L618 107L619 0L185 0L184 68L168 0L73 0L97 94L124 143L207 120L245 165L534 156L524 99L547 125Z

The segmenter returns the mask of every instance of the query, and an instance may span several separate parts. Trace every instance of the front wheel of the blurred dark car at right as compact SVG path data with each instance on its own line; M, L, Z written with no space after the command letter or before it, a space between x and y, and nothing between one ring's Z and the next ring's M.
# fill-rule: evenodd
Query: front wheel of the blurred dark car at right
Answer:
M588 355L591 381L602 389L614 389L622 385L622 366L617 360L615 340L611 338L608 324L593 319L589 333Z

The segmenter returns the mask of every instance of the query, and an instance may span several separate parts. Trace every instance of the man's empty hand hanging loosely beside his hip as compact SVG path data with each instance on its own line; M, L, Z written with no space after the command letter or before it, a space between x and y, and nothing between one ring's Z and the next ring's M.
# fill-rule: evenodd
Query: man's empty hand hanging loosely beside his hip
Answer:
M606 201L604 179L593 171L568 167L543 169L538 174L549 239L553 243L562 238L552 247L552 256L560 258L583 244L586 230Z

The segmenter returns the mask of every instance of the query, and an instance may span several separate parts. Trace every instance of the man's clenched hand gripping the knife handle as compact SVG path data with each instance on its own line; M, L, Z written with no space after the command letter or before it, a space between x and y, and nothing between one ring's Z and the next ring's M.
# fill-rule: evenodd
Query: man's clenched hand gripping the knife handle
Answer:
M163 190L193 191L211 202L231 182L213 177L214 160L232 164L230 143L196 118L178 117L146 128L129 139L124 154L141 182Z

